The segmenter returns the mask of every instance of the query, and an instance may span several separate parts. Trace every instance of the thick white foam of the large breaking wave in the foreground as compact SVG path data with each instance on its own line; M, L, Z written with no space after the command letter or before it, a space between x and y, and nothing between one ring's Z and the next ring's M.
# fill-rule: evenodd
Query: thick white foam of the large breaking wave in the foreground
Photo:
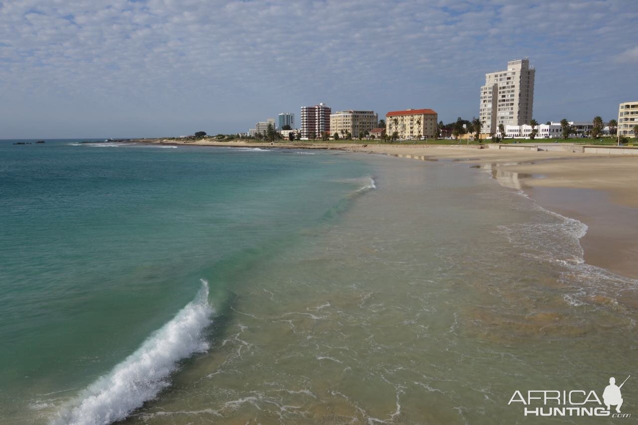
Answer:
M63 406L51 424L110 424L126 418L168 387L177 362L209 348L203 331L211 323L208 283L197 297L107 375Z

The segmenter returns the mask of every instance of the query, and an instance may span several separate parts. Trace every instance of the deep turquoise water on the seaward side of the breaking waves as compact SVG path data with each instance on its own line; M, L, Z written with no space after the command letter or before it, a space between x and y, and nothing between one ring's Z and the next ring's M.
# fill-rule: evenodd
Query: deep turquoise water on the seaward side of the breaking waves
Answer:
M4 417L112 369L202 279L223 308L237 272L369 184L329 153L77 142L0 143Z

